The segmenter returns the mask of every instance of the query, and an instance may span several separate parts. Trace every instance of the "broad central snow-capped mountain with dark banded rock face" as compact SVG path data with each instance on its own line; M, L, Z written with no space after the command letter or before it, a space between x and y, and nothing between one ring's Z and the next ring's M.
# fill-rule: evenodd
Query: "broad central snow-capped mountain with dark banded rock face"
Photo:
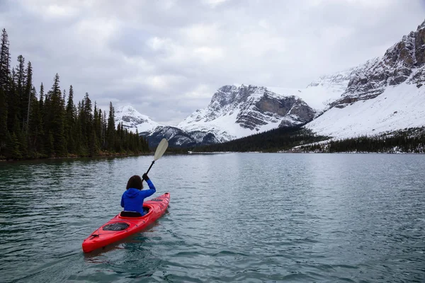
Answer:
M283 96L263 86L222 86L207 108L196 110L177 127L208 132L228 141L277 127L309 122L314 110L297 96Z

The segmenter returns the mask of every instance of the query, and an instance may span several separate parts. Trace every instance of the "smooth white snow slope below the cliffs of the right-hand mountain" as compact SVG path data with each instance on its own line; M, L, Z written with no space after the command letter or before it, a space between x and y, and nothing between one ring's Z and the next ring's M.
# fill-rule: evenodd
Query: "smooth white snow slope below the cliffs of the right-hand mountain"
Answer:
M331 108L306 125L335 139L373 136L382 132L425 125L425 87L402 83L380 96L358 100L345 108Z

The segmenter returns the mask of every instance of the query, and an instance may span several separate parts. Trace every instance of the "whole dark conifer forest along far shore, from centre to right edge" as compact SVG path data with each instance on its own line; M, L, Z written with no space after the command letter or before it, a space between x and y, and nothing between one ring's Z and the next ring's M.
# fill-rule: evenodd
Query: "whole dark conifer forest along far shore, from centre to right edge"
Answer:
M222 144L198 146L193 152L376 152L376 153L425 153L425 127L409 128L377 137L355 137L331 140L314 134L302 125L272 129L242 139Z

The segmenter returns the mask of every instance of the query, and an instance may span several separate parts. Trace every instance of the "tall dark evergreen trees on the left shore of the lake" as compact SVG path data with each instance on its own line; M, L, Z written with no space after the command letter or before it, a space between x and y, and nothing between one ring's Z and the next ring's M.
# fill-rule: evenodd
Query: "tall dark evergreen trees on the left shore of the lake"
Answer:
M6 30L0 50L0 158L44 158L55 156L96 156L99 154L149 151L147 141L115 127L114 108L106 115L86 93L77 106L74 91L60 90L56 74L52 88L39 93L33 86L33 67L22 55L11 67ZM94 106L94 107L93 107Z

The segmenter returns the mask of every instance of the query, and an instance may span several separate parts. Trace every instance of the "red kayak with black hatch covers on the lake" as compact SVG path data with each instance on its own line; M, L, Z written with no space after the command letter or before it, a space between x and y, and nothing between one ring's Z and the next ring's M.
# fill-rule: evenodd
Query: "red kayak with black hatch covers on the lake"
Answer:
M142 231L165 213L169 202L170 194L166 192L164 195L143 202L143 209L148 210L144 216L140 216L139 212L120 212L83 241L84 253L90 253Z

